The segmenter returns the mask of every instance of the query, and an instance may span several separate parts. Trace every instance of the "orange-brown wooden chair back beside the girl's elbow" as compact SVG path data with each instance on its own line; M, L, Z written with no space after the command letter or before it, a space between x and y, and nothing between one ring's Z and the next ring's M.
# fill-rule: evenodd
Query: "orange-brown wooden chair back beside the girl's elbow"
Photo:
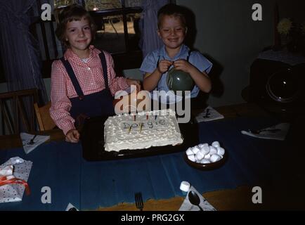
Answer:
M34 103L34 109L40 131L46 131L56 127L56 124L52 120L49 112L50 107L51 107L51 101L49 101L46 105L41 107L39 107L37 103Z

